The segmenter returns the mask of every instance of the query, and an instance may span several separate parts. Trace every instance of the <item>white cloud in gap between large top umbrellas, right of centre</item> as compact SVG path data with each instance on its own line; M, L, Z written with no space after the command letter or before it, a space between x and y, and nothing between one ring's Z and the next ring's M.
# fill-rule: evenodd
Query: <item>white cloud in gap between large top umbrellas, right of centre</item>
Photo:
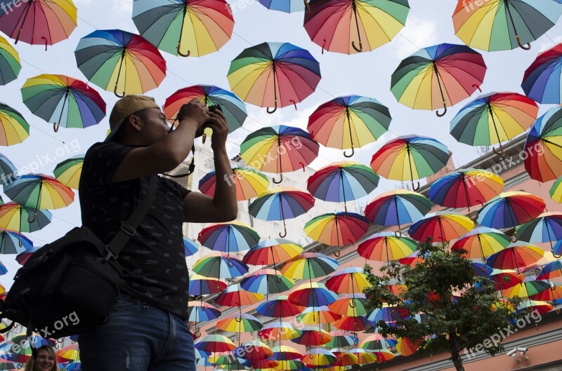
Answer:
M437 43L436 20L421 19L410 15L407 25L393 41L396 55L400 59L417 52L420 48Z

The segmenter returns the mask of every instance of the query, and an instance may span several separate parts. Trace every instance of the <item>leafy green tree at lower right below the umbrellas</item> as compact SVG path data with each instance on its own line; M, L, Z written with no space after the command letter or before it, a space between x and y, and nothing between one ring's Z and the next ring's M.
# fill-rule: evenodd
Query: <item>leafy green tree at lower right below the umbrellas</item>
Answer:
M419 257L424 262L414 268L389 264L377 276L365 265L371 284L364 292L367 308L388 304L410 315L396 321L396 325L379 321L381 335L419 340L420 351L430 354L449 351L457 371L464 371L462 352L478 344L483 345L477 349L483 348L491 356L503 351L502 344L493 341L499 337L498 328L525 316L513 310L520 299L499 299L495 284L476 276L471 260L463 257L463 252L466 251L447 252L442 246L421 243ZM398 270L407 290L395 295L385 285ZM417 313L424 313L426 320L418 322L414 318Z

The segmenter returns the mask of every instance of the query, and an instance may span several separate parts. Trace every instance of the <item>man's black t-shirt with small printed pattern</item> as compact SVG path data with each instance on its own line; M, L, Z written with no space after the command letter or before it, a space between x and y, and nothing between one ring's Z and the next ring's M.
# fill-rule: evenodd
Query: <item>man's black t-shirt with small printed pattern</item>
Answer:
M93 144L79 184L82 224L109 243L148 194L150 177L112 183L115 170L134 147ZM189 191L159 177L155 198L136 234L119 253L126 281L122 291L183 318L188 317L188 267L183 248L183 198Z

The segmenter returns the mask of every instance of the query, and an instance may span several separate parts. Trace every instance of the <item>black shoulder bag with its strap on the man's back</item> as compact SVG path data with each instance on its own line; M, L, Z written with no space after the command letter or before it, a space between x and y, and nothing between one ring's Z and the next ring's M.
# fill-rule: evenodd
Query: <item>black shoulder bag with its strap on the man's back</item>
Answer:
M34 331L45 338L88 332L105 323L124 285L117 256L148 213L157 182L156 175L150 178L148 196L109 245L82 226L34 252L15 274L0 318L26 326L27 335Z

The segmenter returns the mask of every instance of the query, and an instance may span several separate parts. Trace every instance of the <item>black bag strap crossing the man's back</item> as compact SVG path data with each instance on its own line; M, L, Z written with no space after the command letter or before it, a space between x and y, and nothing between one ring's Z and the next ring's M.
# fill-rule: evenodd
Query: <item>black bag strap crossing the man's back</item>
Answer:
M145 217L146 213L148 213L148 208L150 208L150 204L156 194L157 183L158 175L152 175L152 177L150 177L148 195L143 198L143 201L141 201L131 216L129 216L129 219L121 224L121 228L117 231L117 234L113 237L109 245L105 246L105 250L107 252L105 260L109 260L111 258L116 259L119 252L121 252L126 243L129 242L129 238L134 236L136 233L136 227L138 227L138 224L141 224L141 220L143 220L143 217Z

